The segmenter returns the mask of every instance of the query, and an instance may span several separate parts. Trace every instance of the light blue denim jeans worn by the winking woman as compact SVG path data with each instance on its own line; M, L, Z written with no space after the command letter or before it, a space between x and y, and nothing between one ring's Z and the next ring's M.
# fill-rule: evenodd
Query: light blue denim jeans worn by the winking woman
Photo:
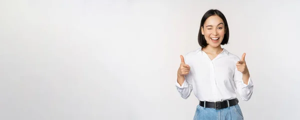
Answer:
M194 120L240 120L243 119L242 112L238 104L222 109L207 108L197 105Z

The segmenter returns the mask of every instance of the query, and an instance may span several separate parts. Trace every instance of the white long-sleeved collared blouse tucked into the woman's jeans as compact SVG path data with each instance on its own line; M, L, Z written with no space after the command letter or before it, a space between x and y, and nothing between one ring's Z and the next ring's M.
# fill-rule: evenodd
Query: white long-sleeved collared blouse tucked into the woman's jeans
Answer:
M242 73L237 70L236 62L239 57L228 52L225 48L214 59L210 60L201 47L188 52L184 57L185 64L190 66L180 86L175 86L181 97L186 99L193 90L194 95L201 101L223 101L236 98L236 91L242 100L249 100L253 92L253 83L249 77L248 84L242 81Z

